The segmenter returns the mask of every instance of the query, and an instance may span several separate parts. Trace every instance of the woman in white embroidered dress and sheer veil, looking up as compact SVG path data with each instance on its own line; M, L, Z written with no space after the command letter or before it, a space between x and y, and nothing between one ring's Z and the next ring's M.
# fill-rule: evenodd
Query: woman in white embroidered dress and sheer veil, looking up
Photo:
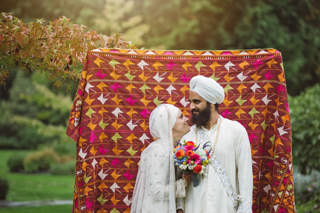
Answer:
M158 139L142 153L133 190L131 213L176 213L176 197L185 197L191 173L176 180L175 141L189 132L188 118L170 104L160 104L149 119L151 135Z

